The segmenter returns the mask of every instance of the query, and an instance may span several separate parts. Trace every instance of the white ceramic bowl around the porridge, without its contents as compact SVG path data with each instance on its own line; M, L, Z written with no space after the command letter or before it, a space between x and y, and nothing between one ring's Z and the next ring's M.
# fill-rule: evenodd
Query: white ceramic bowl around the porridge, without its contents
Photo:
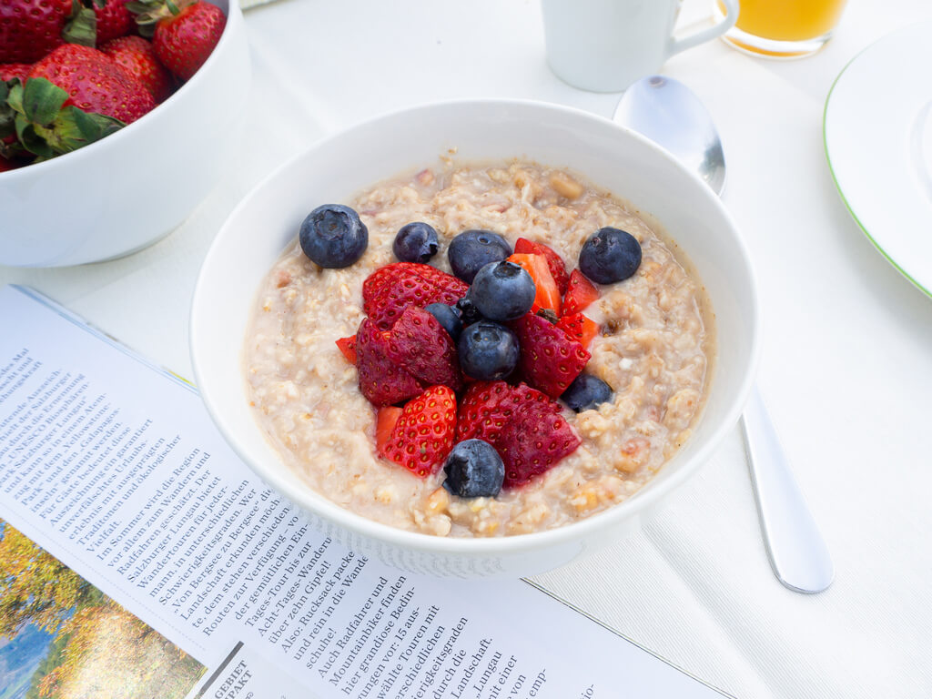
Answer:
M318 495L284 466L246 396L242 348L260 280L315 206L433 164L524 157L569 167L651 213L689 256L716 316L718 358L692 439L637 495L563 528L495 539L450 539L391 528ZM633 131L566 107L482 101L422 106L328 138L275 171L230 214L200 271L191 309L196 383L226 440L255 473L365 555L441 575L528 575L568 563L636 528L641 516L702 465L731 430L756 365L758 310L744 243L692 172Z

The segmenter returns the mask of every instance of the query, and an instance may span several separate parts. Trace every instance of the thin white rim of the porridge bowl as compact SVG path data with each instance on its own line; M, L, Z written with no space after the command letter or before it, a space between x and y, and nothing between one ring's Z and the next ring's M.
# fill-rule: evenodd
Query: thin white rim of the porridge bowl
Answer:
M314 514L315 516L320 517L327 522L334 523L336 526L346 529L352 534L360 535L376 541L383 541L406 550L423 554L495 556L540 551L541 549L553 548L560 545L570 544L572 542L587 541L597 532L610 530L613 525L617 525L629 517L637 516L637 514L649 510L651 506L656 504L659 500L662 500L668 493L670 493L672 490L675 490L686 480L688 480L694 473L696 473L698 469L707 462L714 451L719 448L725 435L733 430L735 424L738 421L738 418L744 409L744 405L747 403L747 398L755 381L755 375L757 373L757 367L760 361L762 330L761 312L757 290L758 282L754 272L754 267L751 264L750 255L747 250L747 244L740 236L731 213L728 212L719 197L717 197L711 189L707 188L707 185L695 172L688 169L685 165L683 165L676 158L665 151L665 149L663 149L661 146L654 144L650 139L647 139L646 137L637 133L637 131L628 129L606 117L601 117L583 109L567 106L564 104L548 103L540 100L509 98L459 98L405 106L390 112L378 114L375 117L363 119L359 122L349 125L349 127L345 129L337 130L331 134L328 134L315 143L309 145L308 148L302 152L292 156L291 158L287 158L278 167L267 173L265 177L263 177L246 195L240 199L236 207L234 207L233 210L227 215L224 224L220 227L216 236L214 237L211 246L207 251L207 254L204 255L198 274L198 280L196 281L194 292L191 296L192 300L188 323L188 337L195 386L199 387L201 385L202 382L200 379L203 376L203 373L200 369L201 363L199 361L199 351L196 341L200 336L199 318L201 311L199 309L199 297L201 296L202 285L206 284L204 278L205 270L210 267L212 258L219 254L218 250L222 246L222 240L225 237L226 229L228 226L230 226L230 222L240 215L241 210L249 205L251 200L254 199L258 192L265 189L270 182L279 177L282 171L288 170L296 162L312 157L311 154L313 154L315 151L322 149L323 147L338 139L348 137L348 134L352 133L353 131L372 128L379 121L388 121L392 118L400 117L417 118L419 113L424 113L435 109L449 109L457 107L493 109L509 106L517 109L555 112L565 117L589 120L600 124L603 127L610 126L613 129L623 131L626 133L627 137L646 144L658 158L666 160L676 169L687 174L697 187L701 187L703 191L706 191L707 196L714 200L714 206L719 209L723 220L727 223L729 234L731 235L733 233L732 242L736 248L737 253L739 254L741 262L744 265L744 269L747 273L747 278L749 281L749 288L744 290L745 295L750 302L749 308L751 308L752 314L752 318L750 319L751 334L749 337L748 348L748 370L740 383L739 389L735 392L732 403L728 406L725 418L720 420L720 424L708 436L706 443L702 445L695 454L692 455L692 458L687 460L686 463L679 467L676 473L666 477L663 482L646 490L642 487L638 489L637 492L628 500L623 500L622 502L611 506L603 512L593 514L581 520L571 522L567 525L530 532L528 534L515 534L500 537L441 537L417 531L410 531L407 529L392 527L391 525L369 519L362 514L351 512L350 510L338 505L333 500L327 499L325 495L318 493L309 486L304 487L302 492L296 494L291 493L290 488L287 487L287 484L285 484L283 479L278 475L276 468L267 466L265 463L256 463L246 456L244 450L240 448L239 442L236 438L236 433L227 428L226 420L223 418L223 412L218 408L218 405L214 403L212 396L201 392L198 389L203 404L207 408L213 423L216 425L217 429L221 432L222 436L226 440L226 444L233 449L237 456L239 456L240 459L242 459L243 462L254 473L259 475L259 477L265 483L274 487L286 499L294 501L297 506L306 512ZM207 311L205 310L204 312L206 313ZM239 351L241 350L238 350L238 352ZM287 467L282 463L281 468ZM314 498L319 500L311 500L309 497L310 494L313 494Z

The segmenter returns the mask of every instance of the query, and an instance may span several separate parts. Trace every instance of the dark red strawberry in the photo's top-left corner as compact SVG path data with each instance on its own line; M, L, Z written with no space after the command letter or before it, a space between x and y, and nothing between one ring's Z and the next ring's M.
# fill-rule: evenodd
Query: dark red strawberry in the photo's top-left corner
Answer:
M32 63L64 43L72 0L2 0L0 63Z

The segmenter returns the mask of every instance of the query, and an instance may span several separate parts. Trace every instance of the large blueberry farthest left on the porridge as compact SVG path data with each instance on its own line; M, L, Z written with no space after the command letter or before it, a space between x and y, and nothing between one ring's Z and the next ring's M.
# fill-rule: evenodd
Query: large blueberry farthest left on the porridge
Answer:
M304 254L321 267L349 267L363 256L369 229L349 206L324 204L308 213L298 240Z

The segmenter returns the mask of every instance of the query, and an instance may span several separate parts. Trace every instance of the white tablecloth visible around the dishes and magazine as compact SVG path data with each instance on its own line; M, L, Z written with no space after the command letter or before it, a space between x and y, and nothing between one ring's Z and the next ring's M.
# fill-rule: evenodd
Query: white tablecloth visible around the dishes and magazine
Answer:
M689 0L680 20L709 12ZM836 580L817 596L775 580L735 430L642 531L536 582L738 697L932 695L932 299L845 210L822 143L825 99L844 65L929 19L927 0L851 0L815 56L768 61L713 41L664 66L722 134L724 202L760 283L761 390ZM609 117L619 98L549 72L533 0L281 0L249 10L246 24L250 130L238 166L183 226L113 262L0 267L0 282L34 286L186 376L200 260L226 212L285 158L414 103L514 97ZM927 66L903 70L928 81Z

